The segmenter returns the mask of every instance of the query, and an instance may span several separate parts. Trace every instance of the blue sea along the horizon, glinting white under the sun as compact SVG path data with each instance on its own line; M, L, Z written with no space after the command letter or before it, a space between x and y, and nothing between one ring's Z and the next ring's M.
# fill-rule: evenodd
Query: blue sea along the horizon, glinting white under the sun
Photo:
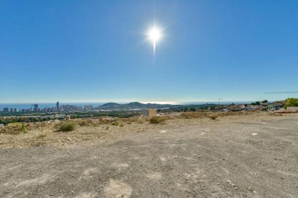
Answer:
M221 101L221 104L230 104L230 103L235 103L235 104L245 104L245 103L251 103L252 101ZM92 105L93 107L100 106L104 103L107 102L59 102L59 106L61 105L75 105L75 106L85 106L85 105ZM129 103L129 102L117 102L117 103ZM164 103L164 102L156 102L156 101L146 101L141 103ZM218 101L199 101L199 102L166 102L169 104L206 104L206 103L214 103L218 104ZM39 108L45 108L45 107L56 107L56 102L49 102L49 103L38 103ZM8 108L17 108L17 109L28 109L30 107L34 107L34 103L0 103L0 111L3 110L3 108L8 107Z

